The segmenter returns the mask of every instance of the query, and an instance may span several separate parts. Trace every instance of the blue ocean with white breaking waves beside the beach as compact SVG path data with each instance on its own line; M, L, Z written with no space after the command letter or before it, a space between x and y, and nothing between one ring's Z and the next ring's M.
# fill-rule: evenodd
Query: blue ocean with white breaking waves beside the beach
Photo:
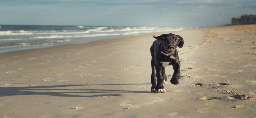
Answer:
M0 25L0 53L183 29L186 28Z

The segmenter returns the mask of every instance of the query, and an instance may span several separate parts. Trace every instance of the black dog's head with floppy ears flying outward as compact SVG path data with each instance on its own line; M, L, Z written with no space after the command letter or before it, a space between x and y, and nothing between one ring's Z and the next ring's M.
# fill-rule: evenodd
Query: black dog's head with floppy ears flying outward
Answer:
M162 34L160 36L153 36L155 39L162 41L163 47L165 49L165 53L174 54L177 46L179 48L183 47L184 41L183 38L179 35L175 34Z

